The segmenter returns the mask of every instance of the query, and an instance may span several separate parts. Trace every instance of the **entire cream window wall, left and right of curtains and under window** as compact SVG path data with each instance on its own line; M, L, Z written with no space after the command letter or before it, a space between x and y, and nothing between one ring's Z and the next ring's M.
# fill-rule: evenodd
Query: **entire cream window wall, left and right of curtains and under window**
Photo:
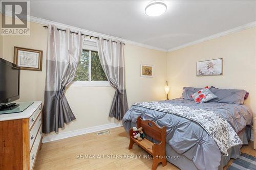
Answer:
M46 76L48 30L31 22L30 36L1 36L0 54L13 62L14 46L43 51L42 71L21 70L20 99L43 101ZM165 99L166 53L144 47L124 45L125 82L129 107L135 102ZM140 64L154 65L154 77L140 77ZM73 131L116 122L109 111L115 90L112 87L69 87L66 97L76 116L74 122L59 132Z

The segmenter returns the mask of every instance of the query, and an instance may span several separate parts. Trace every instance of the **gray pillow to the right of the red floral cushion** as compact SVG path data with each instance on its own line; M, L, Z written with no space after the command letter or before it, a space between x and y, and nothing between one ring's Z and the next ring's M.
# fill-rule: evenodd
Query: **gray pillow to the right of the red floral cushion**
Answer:
M219 89L211 87L210 91L218 96L210 102L244 104L244 98L247 93L245 90L237 89Z

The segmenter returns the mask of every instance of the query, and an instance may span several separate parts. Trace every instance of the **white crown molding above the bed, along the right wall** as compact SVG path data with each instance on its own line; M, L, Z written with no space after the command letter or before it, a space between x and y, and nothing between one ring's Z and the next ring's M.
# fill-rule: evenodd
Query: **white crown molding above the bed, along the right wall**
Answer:
M208 40L211 40L211 39L222 37L224 35L228 35L228 34L231 34L231 33L236 33L236 32L239 32L239 31L242 31L242 30L245 30L245 29L248 29L248 28L252 28L252 27L255 27L255 26L256 26L256 21L253 21L253 22L247 23L245 25L242 25L242 26L239 26L239 27L236 27L236 28L218 33L218 34L214 34L214 35L211 35L211 36L208 36L208 37L196 40L196 41L192 41L192 42L185 43L183 45L180 45L180 46L177 46L177 47L174 47L174 48L170 48L167 52L173 52L173 51L179 50L181 48L184 48L184 47L187 47L187 46L190 46L190 45L195 45L195 44L198 44L198 43L201 43L201 42L204 42L204 41L208 41Z

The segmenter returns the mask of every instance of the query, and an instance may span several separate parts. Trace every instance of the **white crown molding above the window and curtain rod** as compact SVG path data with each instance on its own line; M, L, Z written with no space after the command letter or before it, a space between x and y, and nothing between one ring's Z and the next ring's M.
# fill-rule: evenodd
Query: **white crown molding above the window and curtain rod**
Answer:
M123 43L126 43L126 44L132 44L132 45L137 45L137 46L149 48L149 49L152 49L152 50L167 52L167 50L164 49L164 48L159 48L159 47L146 45L146 44L143 44L143 43L139 43L139 42L123 39L123 38L118 38L118 37L114 37L114 36L110 36L110 35L106 35L106 34L101 34L101 33L93 32L93 31L81 29L81 28L78 28L78 27L69 26L69 25L66 25L66 24L63 24L63 23L59 23L59 22L55 22L55 21L51 21L51 20L47 20L47 19L37 18L37 17L34 17L34 16L30 16L30 21L40 23L42 25L55 25L58 28L62 28L62 29L70 28L70 30L72 30L72 31L80 31L83 34L87 34L87 35L102 36L104 38L111 38L113 40L119 40L119 41L122 41Z

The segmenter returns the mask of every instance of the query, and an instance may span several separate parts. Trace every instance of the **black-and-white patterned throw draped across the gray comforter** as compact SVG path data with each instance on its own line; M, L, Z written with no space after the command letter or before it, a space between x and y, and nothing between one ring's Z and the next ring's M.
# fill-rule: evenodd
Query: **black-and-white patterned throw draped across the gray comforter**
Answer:
M179 115L193 120L201 125L212 139L214 139L221 153L225 156L228 156L228 149L236 145L243 144L227 120L215 111L195 109L188 106L180 106L163 102L143 102L135 103L134 105Z

